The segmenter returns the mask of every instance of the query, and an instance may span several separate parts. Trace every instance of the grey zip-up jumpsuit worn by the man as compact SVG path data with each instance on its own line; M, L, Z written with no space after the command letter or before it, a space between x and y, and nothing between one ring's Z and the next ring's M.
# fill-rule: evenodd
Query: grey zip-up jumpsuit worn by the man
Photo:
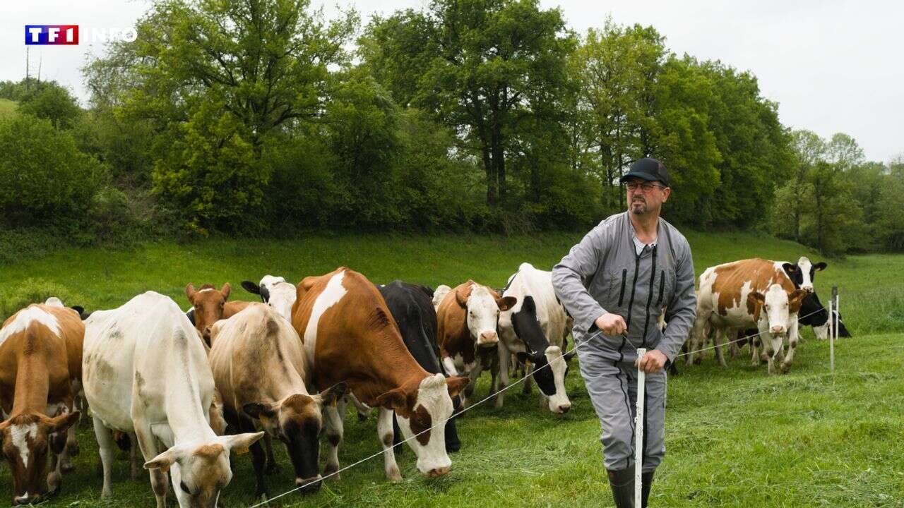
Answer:
M656 244L638 255L627 212L608 217L552 268L552 287L574 318L581 376L602 427L608 470L634 466L636 348L658 349L673 362L696 314L691 246L659 219ZM656 322L666 308L668 325ZM621 315L627 337L598 334L606 313ZM646 374L644 471L665 455L665 371Z

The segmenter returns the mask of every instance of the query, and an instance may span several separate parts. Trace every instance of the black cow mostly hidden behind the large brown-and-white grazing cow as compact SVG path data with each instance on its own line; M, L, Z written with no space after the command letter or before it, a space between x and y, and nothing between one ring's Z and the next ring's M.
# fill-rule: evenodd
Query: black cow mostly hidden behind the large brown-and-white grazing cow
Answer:
M433 290L425 286L408 284L400 280L380 286L380 294L386 300L392 318L399 325L399 332L405 347L411 356L425 371L431 374L441 373L448 376L439 362L439 349L437 347L437 312L433 308L431 297ZM452 400L455 412L460 409L460 400L456 397ZM398 423L392 426L393 443L399 444L400 430ZM458 439L456 420L449 419L445 428L446 449L457 452L461 449L461 441Z

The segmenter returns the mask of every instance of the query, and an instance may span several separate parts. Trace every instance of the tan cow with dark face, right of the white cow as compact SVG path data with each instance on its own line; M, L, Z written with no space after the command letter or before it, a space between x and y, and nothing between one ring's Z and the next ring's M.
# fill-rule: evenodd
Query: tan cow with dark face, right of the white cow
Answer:
M320 488L317 456L323 409L342 397L344 382L320 394L309 393L310 369L301 339L287 319L266 304L250 304L214 324L209 358L227 422L253 432L258 421L270 437L286 445L296 485L303 492ZM268 494L260 443L251 445L251 454L257 498Z

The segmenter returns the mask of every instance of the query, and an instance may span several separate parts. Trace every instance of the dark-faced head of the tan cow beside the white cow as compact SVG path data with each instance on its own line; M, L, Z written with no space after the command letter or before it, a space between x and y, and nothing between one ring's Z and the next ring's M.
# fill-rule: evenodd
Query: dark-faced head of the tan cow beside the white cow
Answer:
M320 451L320 430L324 426L323 409L345 394L340 382L317 395L295 393L278 402L251 402L242 410L259 419L264 430L286 445L289 460L295 468L295 484L305 485L304 492L320 488L317 456Z

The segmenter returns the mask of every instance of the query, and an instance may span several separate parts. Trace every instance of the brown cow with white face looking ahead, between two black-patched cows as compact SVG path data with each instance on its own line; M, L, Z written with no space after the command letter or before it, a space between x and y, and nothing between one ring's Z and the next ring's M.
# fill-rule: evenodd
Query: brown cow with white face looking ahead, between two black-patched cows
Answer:
M465 406L474 392L480 372L486 367L485 359L495 361L497 358L499 313L509 310L516 303L514 296L499 296L493 289L473 280L447 292L439 303L439 358L447 372L452 375L464 372L470 379L465 400L462 400Z

